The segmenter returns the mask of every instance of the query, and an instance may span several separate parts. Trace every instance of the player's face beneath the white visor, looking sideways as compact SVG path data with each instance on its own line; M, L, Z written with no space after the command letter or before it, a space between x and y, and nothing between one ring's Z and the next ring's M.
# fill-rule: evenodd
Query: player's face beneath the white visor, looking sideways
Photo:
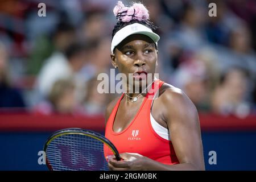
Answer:
M148 36L130 35L115 48L111 57L113 66L126 75L127 81L132 78L133 85L154 79L158 51Z

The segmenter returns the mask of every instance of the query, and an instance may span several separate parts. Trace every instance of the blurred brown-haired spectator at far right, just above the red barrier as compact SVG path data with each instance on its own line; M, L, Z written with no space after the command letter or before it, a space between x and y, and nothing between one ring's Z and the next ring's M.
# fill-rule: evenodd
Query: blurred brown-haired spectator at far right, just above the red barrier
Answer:
M212 96L214 113L244 118L250 113L246 102L247 73L241 68L230 68L221 78Z

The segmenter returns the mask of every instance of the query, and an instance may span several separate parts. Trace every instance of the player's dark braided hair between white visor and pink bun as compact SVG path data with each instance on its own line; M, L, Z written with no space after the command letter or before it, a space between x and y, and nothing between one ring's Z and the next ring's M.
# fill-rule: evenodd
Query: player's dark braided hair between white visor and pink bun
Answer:
M115 24L113 32L112 32L112 39L114 37L114 35L121 30L123 27L126 27L129 24L133 24L133 23L140 23L143 24L144 26L150 28L152 31L156 30L158 27L156 27L154 25L154 23L150 22L149 20L144 20L144 21L139 21L139 20L131 20L130 22L121 22L118 21L117 24Z

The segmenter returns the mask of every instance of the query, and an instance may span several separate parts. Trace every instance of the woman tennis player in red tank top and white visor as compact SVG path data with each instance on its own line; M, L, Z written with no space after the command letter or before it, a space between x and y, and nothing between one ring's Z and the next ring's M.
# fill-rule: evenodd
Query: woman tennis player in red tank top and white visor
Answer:
M106 109L105 136L123 159L115 160L105 147L109 168L204 170L195 106L180 89L154 77L160 38L153 32L156 27L148 10L141 3L126 7L119 1L113 11L118 22L113 30L112 64L133 82L127 79L127 92ZM139 93L130 92L135 85Z

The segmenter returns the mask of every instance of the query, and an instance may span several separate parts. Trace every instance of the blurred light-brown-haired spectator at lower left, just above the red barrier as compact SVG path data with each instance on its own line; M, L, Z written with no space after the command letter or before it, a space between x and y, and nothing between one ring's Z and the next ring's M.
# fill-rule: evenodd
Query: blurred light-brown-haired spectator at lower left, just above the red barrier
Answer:
M47 100L40 102L35 108L37 114L76 114L79 107L75 100L75 84L72 79L57 80L47 96Z

